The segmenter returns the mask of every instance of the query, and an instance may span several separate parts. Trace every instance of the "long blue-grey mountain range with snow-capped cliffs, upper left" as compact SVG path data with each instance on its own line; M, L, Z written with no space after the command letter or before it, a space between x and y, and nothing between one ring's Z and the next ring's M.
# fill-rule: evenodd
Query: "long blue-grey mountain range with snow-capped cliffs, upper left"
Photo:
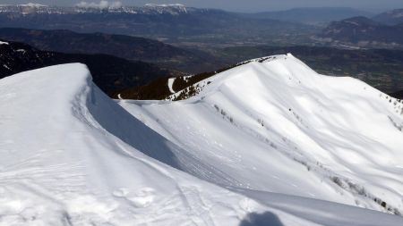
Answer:
M156 38L169 43L296 42L317 29L296 22L251 18L241 13L183 5L79 8L0 6L0 24L26 29L70 29ZM236 35L234 35L236 34Z

